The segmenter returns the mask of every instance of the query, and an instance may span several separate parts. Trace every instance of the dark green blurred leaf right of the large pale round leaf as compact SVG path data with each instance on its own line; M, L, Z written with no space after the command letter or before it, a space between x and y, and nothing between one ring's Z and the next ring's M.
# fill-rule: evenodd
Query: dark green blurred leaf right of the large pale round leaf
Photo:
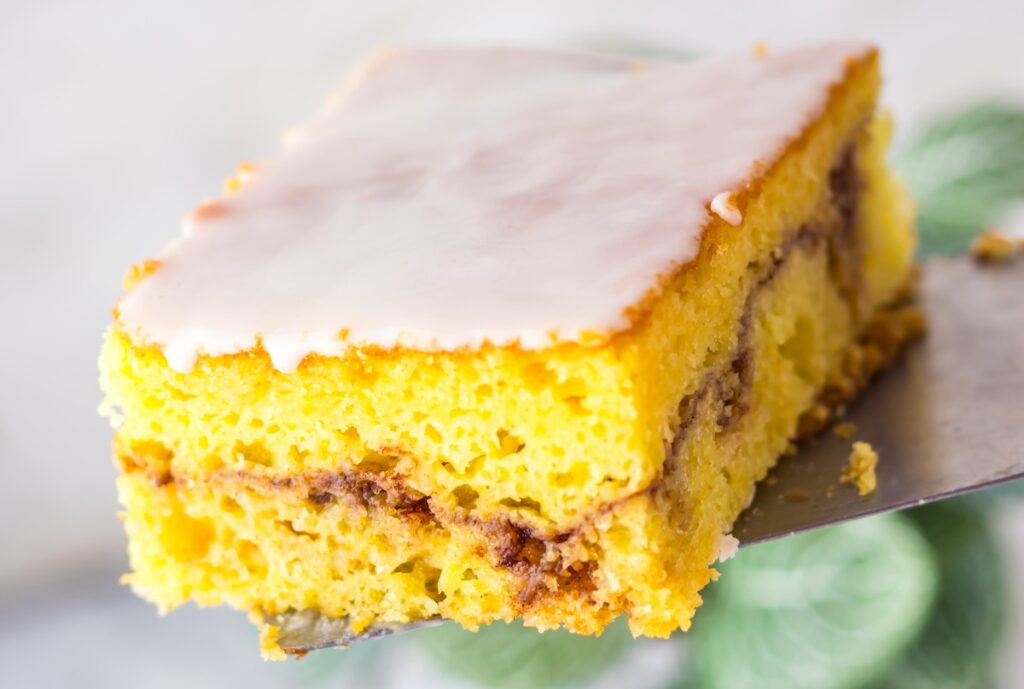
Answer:
M1006 631L1008 591L983 510L957 499L910 511L935 551L939 594L924 634L880 689L982 689Z

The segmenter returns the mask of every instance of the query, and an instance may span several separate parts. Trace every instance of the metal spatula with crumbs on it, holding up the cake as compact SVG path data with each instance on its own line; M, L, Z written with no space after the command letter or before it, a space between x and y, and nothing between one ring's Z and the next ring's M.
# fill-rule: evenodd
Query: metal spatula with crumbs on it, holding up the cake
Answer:
M852 439L881 460L865 498L838 486L851 439L827 431L784 458L733 530L740 545L923 505L1024 476L1024 263L936 260L924 271L929 333L850 407ZM799 496L799 500L794 497ZM268 618L281 647L304 653L439 623L353 634L311 610Z

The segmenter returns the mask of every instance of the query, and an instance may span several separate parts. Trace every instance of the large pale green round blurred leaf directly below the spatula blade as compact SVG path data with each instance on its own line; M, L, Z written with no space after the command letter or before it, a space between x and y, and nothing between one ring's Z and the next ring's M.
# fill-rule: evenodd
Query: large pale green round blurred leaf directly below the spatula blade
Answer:
M899 515L743 551L712 587L691 657L707 689L852 689L921 632L935 593L927 542Z

